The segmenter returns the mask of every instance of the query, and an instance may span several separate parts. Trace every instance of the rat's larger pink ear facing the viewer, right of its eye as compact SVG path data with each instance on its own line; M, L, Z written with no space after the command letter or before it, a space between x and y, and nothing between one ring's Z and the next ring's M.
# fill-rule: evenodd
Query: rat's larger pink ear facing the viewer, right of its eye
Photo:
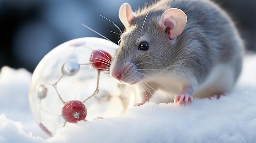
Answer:
M171 8L164 11L159 25L166 30L169 39L173 40L182 33L186 21L186 14L182 10Z

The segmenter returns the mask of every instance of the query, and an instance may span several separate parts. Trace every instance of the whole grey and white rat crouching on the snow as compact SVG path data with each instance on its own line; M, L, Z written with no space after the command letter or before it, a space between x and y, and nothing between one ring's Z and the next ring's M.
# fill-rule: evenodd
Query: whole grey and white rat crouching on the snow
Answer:
M159 0L137 11L121 5L125 31L110 76L139 88L139 106L156 90L187 105L231 91L241 73L244 43L231 17L210 0Z

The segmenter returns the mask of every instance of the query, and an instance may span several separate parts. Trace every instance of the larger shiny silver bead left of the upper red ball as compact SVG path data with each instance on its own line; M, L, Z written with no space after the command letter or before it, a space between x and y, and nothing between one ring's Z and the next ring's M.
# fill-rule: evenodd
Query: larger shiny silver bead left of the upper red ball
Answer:
M66 76L73 76L79 72L80 64L75 61L67 61L63 64L61 72Z

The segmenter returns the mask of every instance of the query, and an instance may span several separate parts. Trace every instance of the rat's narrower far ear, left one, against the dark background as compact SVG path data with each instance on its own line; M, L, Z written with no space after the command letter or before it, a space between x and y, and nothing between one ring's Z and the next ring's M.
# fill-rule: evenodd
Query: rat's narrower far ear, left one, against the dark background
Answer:
M130 4L124 3L119 9L119 19L124 24L125 28L130 27L130 21L136 17L136 14L132 11Z

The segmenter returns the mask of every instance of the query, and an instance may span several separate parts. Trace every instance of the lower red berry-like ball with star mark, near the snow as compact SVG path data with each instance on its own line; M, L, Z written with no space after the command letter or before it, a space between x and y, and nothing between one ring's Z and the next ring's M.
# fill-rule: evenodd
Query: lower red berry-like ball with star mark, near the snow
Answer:
M72 100L64 104L61 114L65 121L77 123L77 121L85 119L87 109L81 101Z

